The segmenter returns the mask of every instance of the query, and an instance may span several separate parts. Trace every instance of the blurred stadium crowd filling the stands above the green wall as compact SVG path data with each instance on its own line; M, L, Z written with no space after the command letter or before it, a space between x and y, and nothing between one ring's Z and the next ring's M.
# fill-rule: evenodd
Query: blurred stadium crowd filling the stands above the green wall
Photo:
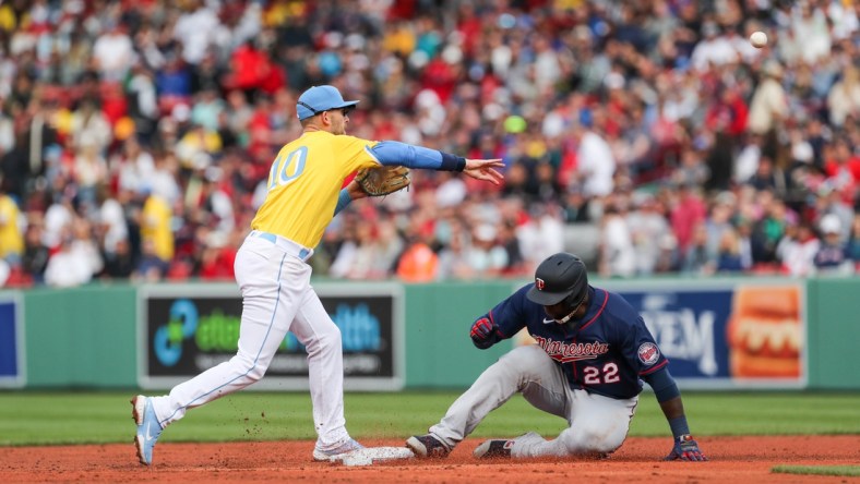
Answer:
M231 279L319 84L361 99L349 134L501 157L506 180L414 170L335 219L318 277L527 277L587 252L582 227L605 277L853 274L859 16L847 0L5 1L0 286Z

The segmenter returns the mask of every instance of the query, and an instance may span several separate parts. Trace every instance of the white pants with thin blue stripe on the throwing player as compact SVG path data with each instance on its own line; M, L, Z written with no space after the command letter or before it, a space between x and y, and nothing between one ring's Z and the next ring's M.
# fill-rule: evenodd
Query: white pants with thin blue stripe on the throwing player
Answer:
M229 361L153 398L162 426L263 377L287 331L308 351L316 448L330 450L349 438L344 419L344 356L341 330L310 286L311 267L299 247L283 238L252 232L239 249L235 269L242 294L239 350ZM301 253L304 259L309 251Z

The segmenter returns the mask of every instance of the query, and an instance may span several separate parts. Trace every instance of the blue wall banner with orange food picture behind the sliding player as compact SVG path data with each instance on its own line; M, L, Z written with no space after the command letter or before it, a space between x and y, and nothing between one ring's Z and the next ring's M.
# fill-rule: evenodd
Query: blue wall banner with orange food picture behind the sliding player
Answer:
M607 281L636 308L690 389L803 388L803 283L780 280Z

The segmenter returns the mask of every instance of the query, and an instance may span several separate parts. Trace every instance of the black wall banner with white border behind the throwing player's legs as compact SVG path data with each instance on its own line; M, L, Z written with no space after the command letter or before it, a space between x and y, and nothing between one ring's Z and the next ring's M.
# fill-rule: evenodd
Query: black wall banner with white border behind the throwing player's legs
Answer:
M387 391L404 385L403 295L397 285L315 285L341 329L344 387ZM139 297L139 384L169 388L237 352L242 300L235 286L148 286ZM287 332L254 389L308 388L308 354Z

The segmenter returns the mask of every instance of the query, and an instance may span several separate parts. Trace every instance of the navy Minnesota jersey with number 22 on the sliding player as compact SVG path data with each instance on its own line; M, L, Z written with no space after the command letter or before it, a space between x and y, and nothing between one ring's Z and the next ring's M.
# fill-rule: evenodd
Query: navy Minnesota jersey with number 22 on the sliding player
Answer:
M526 298L531 286L524 286L482 317L499 325L505 339L527 328L540 348L562 365L571 388L632 398L642 391L640 377L669 363L642 316L621 295L589 286L585 316L562 325Z

